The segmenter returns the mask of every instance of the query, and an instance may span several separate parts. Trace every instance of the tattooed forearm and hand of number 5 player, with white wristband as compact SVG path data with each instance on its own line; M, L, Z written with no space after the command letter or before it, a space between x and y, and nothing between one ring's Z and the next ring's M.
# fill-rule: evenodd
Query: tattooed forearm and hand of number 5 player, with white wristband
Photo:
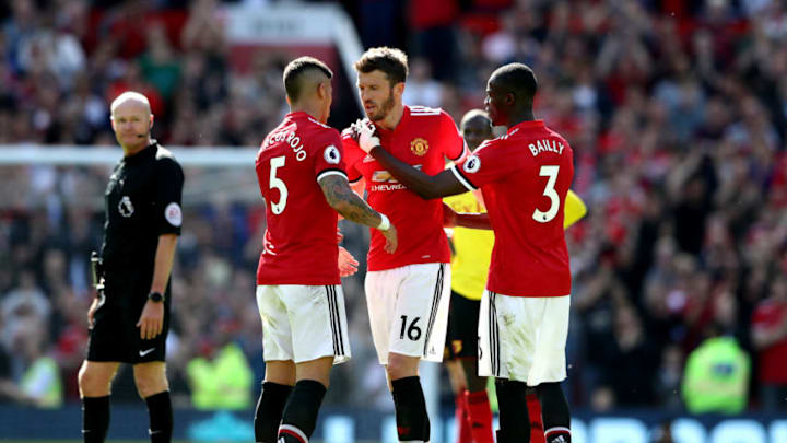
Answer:
M379 230L386 237L386 252L393 253L397 248L396 228L390 224L387 217L369 207L357 194L350 189L346 177L340 175L326 175L318 182L326 201L343 218L369 228Z

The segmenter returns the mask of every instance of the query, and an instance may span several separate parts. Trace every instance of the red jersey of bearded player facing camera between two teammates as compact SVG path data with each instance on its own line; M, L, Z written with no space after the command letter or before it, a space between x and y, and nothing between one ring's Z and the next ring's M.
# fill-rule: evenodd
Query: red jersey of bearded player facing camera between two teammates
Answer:
M442 109L404 106L393 130L377 127L380 143L397 159L435 175L445 168L446 158L460 159L465 140L454 119ZM443 232L443 203L424 200L397 182L388 171L367 155L349 131L342 137L351 182L366 179L368 203L388 215L397 229L396 253L385 252L385 237L372 230L367 268L378 271L422 263L449 263L450 249Z

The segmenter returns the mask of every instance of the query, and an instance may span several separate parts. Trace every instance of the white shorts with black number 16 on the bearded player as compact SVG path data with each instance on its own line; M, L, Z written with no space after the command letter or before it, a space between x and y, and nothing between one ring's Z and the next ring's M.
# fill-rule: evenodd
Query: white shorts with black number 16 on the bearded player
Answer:
M380 364L388 353L443 361L450 265L428 263L366 272L366 306Z

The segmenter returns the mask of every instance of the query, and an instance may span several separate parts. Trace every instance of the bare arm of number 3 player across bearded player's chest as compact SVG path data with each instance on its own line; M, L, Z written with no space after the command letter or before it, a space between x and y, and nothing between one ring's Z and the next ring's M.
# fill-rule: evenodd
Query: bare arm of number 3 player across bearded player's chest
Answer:
M456 178L450 170L445 170L437 175L428 175L397 159L383 147L375 147L369 153L396 179L424 200L454 196L467 191L465 185Z

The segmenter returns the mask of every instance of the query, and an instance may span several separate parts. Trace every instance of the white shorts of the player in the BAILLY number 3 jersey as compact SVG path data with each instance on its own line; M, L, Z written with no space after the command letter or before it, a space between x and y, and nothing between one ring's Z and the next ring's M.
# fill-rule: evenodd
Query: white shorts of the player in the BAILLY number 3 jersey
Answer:
M508 296L485 291L479 314L479 375L528 386L566 377L571 296Z

